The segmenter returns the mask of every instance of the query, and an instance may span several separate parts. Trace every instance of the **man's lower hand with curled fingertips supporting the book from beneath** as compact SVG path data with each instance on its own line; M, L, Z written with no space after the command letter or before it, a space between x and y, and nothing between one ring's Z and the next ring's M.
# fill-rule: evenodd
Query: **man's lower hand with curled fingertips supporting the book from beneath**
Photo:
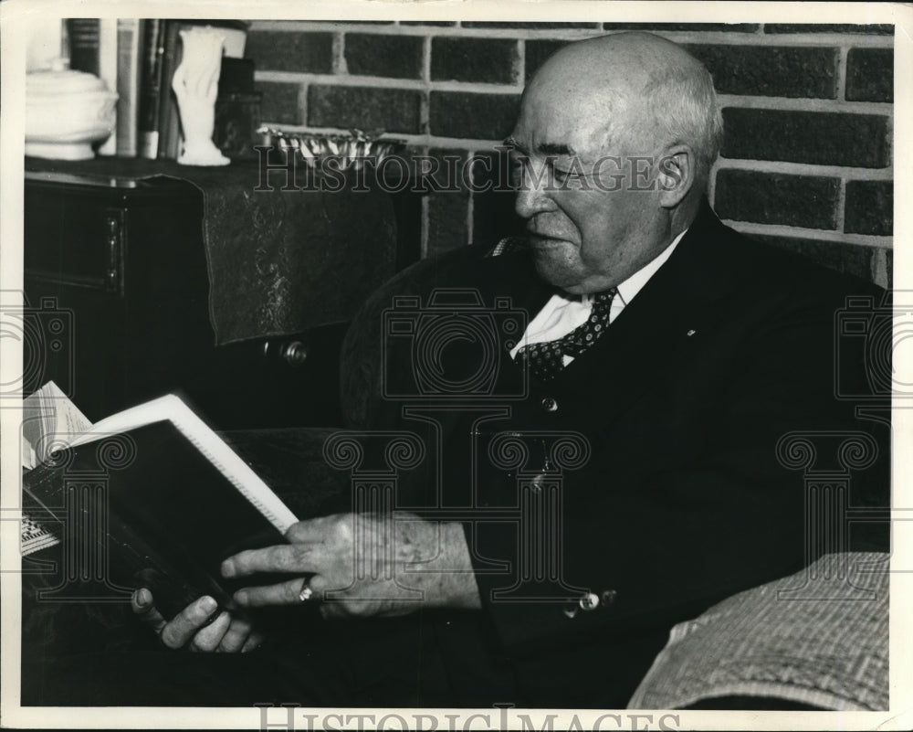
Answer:
M220 612L209 622L215 612L215 599L202 597L181 610L171 621L166 621L155 609L152 592L138 589L131 598L133 612L157 632L168 648L186 648L196 652L236 653L253 651L263 642L248 621ZM207 624L208 623L208 624Z

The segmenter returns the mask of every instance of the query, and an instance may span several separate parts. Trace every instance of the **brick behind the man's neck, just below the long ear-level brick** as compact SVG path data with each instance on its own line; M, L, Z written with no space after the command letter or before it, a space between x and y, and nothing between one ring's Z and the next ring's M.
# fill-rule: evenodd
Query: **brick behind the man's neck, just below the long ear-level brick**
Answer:
M720 218L804 228L836 228L840 180L748 170L717 173Z

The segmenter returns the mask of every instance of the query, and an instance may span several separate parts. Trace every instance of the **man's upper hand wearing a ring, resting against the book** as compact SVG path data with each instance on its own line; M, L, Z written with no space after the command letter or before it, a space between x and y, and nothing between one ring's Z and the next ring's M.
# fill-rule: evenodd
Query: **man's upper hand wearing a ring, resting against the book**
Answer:
M239 605L290 605L301 590L313 590L324 617L404 615L420 608L479 608L476 578L459 524L425 521L415 515L337 514L299 521L289 544L229 557L226 578L257 572L294 578L235 594ZM309 579L310 577L310 579Z

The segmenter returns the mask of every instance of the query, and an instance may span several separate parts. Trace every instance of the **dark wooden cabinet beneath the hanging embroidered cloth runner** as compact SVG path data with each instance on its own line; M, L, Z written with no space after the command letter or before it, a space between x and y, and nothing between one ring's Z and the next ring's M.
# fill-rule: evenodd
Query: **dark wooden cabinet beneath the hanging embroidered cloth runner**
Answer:
M173 391L217 429L340 423L346 324L215 345L199 188L26 171L26 393L54 379L93 420ZM397 202L399 265L419 203Z

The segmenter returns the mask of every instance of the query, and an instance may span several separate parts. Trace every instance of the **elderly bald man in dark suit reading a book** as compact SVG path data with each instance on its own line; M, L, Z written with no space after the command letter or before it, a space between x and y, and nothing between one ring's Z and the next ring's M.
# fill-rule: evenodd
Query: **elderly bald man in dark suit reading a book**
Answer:
M413 516L393 537L377 517L331 515L293 526L287 546L228 558L225 576L251 583L241 606L357 617L306 626L304 677L283 701L624 706L675 623L813 558L803 478L778 461L778 440L868 429L834 398L833 323L847 293L880 293L724 227L705 197L721 135L707 70L659 37L571 44L530 81L507 141L523 246L467 248L434 281L528 313L519 341L500 344L510 357L488 404L507 408L436 415L426 449L453 466L468 464L470 434L480 451L498 435L533 436L545 452L569 436L587 460L564 464L552 490L561 456L542 458L528 495L545 484L557 503L537 509L531 539L490 518L516 509L514 473L480 464L443 476L445 504L468 496L475 515ZM414 367L391 348L392 363ZM448 357L468 356L445 354L445 372L476 373ZM433 420L404 417L404 404L386 400L376 424L421 434ZM436 464L417 474L432 481ZM432 504L429 483L414 483L400 504ZM352 583L357 536L394 546L374 557L378 579ZM289 579L264 585L263 572ZM171 621L148 590L134 606L174 649L260 640L228 613L213 620L209 598ZM347 691L315 691L330 677Z

